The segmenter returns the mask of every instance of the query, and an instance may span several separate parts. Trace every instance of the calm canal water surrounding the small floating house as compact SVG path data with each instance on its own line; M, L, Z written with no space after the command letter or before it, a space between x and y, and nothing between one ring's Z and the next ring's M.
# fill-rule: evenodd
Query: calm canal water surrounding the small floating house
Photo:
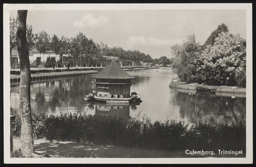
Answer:
M214 96L179 92L169 84L177 75L170 68L128 71L136 80L131 92L140 94L140 105L118 106L87 103L84 97L94 85L92 75L72 76L58 80L31 83L32 113L58 115L60 112L108 115L129 120L132 117L147 117L155 121L167 119L193 122L246 123L246 98ZM10 91L11 113L19 114L19 84L12 84Z

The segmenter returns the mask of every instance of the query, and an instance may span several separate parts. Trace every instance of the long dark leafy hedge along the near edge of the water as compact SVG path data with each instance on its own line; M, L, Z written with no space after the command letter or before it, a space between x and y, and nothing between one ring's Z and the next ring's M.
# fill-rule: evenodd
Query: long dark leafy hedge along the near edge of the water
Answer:
M35 138L47 140L93 142L100 145L138 147L159 150L243 150L246 128L243 124L196 123L166 120L151 122L138 117L122 119L97 115L33 115ZM13 135L20 135L20 118L13 122Z

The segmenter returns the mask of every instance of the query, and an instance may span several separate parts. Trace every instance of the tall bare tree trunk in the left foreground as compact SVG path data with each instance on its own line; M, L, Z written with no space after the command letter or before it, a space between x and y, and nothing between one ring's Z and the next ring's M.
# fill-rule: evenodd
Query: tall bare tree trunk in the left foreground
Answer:
M33 129L30 105L30 66L28 43L26 40L27 10L18 10L17 13L17 48L20 58L20 122L21 122L21 151L25 157L34 152Z

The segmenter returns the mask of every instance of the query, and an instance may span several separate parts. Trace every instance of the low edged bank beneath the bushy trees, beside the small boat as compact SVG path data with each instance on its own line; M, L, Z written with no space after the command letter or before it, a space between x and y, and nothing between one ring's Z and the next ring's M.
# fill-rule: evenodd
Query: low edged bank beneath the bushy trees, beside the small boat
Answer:
M198 83L180 82L180 80L173 80L169 87L175 88L180 92L187 92L191 94L196 93L196 87L203 86L209 89L216 89L216 96L237 96L246 97L246 88L228 87L228 86L212 86Z

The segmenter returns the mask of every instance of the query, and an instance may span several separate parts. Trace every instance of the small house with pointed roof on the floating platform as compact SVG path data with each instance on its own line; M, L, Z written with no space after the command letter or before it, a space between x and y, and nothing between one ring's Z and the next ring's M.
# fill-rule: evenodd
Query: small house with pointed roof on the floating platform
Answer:
M130 98L134 76L127 74L115 61L111 61L97 75L93 75L97 97Z

